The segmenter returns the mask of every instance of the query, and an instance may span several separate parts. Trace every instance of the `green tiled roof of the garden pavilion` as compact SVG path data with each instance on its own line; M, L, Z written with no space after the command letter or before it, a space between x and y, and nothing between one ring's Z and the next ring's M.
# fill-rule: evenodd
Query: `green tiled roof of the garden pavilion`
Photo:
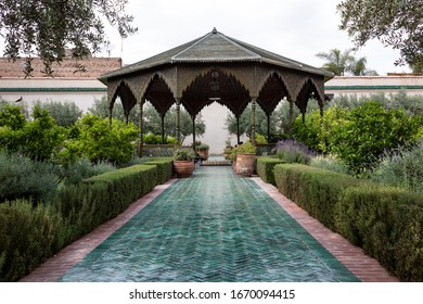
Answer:
M222 62L259 62L291 69L303 71L333 77L331 72L317 68L279 54L254 47L246 42L228 37L216 28L207 35L190 42L165 51L150 59L124 66L100 76L104 84L107 78L142 72L152 67L172 63L222 63Z

